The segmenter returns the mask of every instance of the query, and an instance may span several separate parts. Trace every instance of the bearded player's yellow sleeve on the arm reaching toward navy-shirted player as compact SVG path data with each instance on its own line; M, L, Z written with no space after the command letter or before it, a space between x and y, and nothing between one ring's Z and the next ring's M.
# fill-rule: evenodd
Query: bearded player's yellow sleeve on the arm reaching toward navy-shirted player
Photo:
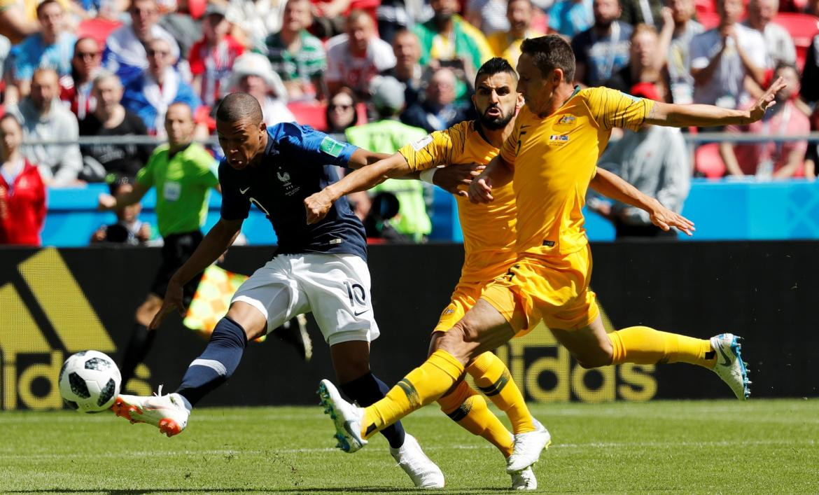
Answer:
M409 170L428 170L459 163L472 122L464 121L446 130L437 130L409 143L398 152L406 159Z

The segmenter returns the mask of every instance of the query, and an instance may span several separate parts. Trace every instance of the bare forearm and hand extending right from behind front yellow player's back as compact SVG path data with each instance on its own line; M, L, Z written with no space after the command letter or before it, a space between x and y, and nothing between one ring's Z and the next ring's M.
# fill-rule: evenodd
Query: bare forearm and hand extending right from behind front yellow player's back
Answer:
M597 169L597 174L591 179L589 186L604 196L646 211L651 216L651 222L660 229L668 230L674 227L688 235L694 234L694 222L663 207L661 202L641 193L639 189L609 170Z

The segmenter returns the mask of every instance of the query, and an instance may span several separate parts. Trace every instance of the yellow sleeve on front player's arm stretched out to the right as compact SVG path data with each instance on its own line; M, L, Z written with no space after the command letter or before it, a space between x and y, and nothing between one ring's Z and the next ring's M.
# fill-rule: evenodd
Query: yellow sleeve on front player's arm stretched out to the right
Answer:
M616 89L587 88L582 89L580 95L597 124L607 130L613 127L640 130L654 107L653 100L636 98Z

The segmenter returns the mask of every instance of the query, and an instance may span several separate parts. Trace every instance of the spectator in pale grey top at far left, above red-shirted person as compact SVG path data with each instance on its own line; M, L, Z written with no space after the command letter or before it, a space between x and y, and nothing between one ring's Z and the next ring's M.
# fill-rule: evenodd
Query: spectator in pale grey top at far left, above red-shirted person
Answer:
M39 167L43 181L52 187L77 184L83 170L79 154L77 117L62 105L60 85L53 69L37 69L31 78L31 93L19 106L6 111L23 126L25 140L64 141L70 144L36 144L23 147L23 155Z

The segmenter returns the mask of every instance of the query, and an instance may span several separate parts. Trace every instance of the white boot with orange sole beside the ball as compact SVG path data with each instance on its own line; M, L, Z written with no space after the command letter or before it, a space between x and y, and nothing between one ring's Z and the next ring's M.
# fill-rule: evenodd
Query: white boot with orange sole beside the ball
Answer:
M162 386L151 397L120 395L111 406L116 416L131 423L147 423L159 428L160 433L169 437L182 433L191 416L190 404L179 393L162 395Z

